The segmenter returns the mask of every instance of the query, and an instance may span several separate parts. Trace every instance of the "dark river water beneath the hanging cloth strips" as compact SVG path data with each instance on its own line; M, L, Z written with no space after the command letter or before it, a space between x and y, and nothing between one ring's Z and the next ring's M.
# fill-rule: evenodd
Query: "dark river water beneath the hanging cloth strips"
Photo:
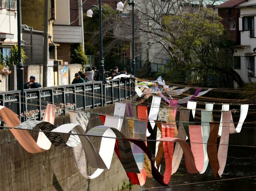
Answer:
M162 162L163 164L164 162ZM161 165L163 174L164 165ZM229 146L228 158L224 173L221 179L230 179L245 176L256 176L256 149L251 147ZM184 158L179 170L172 175L169 188L155 188L161 185L153 178L148 178L143 187L134 186L132 189L159 190L159 191L201 191L201 190L256 190L256 177L234 180L217 181L210 183L199 183L216 180L213 176L210 164L204 174L189 174L186 170ZM187 183L199 183L191 185L174 186ZM151 189L147 189L151 188Z

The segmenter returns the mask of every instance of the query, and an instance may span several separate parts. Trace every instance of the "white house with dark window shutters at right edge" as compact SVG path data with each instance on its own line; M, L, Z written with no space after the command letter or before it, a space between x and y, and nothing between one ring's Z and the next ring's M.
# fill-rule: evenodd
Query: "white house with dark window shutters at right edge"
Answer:
M234 70L238 72L245 83L256 82L256 0L240 3L239 31L241 31L241 45L234 49Z

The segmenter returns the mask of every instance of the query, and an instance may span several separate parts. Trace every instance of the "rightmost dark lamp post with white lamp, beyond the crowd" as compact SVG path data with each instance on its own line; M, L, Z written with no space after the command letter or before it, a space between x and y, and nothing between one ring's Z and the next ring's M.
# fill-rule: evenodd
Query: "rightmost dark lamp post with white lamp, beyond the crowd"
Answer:
M136 62L135 62L135 38L134 38L134 0L130 1L128 0L128 5L132 5L132 75L135 75L136 72ZM122 1L117 3L117 10L123 11L124 4Z

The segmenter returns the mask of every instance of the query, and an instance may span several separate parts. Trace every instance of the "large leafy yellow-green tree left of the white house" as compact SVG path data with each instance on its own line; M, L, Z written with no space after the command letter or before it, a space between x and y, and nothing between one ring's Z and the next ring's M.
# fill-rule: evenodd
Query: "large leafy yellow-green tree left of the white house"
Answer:
M173 59L163 71L167 79L207 85L211 78L232 68L230 42L220 21L209 9L163 17L170 34L167 40L173 45Z

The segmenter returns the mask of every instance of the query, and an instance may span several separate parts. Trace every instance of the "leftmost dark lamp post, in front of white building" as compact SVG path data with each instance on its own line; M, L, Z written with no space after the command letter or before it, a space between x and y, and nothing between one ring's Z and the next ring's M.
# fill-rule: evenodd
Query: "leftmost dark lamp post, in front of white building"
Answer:
M18 28L18 63L17 63L17 86L18 90L21 91L21 96L20 96L20 106L21 106L21 112L24 112L24 76L23 76L23 64L22 64L22 59L21 59L21 0L17 0L17 28Z

